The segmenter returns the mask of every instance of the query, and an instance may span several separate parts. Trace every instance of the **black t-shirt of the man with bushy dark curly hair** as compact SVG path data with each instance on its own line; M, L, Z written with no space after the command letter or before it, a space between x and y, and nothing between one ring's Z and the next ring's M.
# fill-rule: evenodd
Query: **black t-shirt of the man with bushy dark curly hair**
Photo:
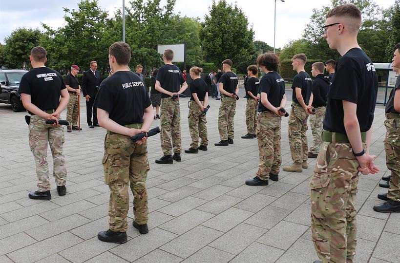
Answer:
M271 71L263 75L260 80L260 87L258 89L260 93L266 93L268 101L274 106L279 107L282 101L283 95L285 94L285 81L278 73ZM262 103L261 99L258 103L258 112L271 112Z

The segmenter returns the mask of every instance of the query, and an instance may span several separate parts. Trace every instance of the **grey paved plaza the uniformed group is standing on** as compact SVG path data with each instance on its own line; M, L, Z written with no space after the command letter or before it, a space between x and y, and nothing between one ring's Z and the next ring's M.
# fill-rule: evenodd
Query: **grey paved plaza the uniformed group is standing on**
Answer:
M28 147L26 113L0 105L0 263L312 263L309 181L315 159L302 173L281 171L268 187L249 187L258 165L256 139L246 133L243 90L237 103L234 145L219 141L219 101L207 113L209 150L182 153L182 162L155 164L162 156L159 135L148 140L148 226L140 235L128 214L128 242L103 243L97 233L108 228L109 189L103 181L105 130L89 129L81 96L83 131L67 133L64 155L67 195L59 197L51 178L50 201L30 200L37 190L35 164ZM290 99L291 96L288 96ZM189 98L181 98L182 148L188 149ZM290 102L287 103L289 110ZM66 111L62 116L65 118ZM400 262L400 214L374 212L386 189L378 183L387 173L383 139L383 107L377 107L371 153L378 155L376 175L360 176L358 263ZM160 120L153 122L159 126ZM309 143L311 131L307 132ZM48 150L50 174L52 158ZM290 164L288 118L282 121L282 165ZM130 195L132 200L132 195ZM132 206L132 204L131 204Z

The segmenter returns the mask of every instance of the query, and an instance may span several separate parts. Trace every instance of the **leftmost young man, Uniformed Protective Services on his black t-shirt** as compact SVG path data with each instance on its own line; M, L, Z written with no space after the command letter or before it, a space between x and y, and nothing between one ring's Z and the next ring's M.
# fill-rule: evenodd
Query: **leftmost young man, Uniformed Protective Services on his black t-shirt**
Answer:
M66 166L63 155L64 133L58 124L60 113L68 104L69 94L62 76L44 66L46 50L34 47L29 57L32 70L21 78L19 93L23 107L31 114L29 123L29 147L35 157L38 190L28 194L30 199L50 200L49 169L47 164L47 144L53 155L53 175L57 192L65 195ZM60 100L61 96L61 100ZM55 124L46 124L55 120Z

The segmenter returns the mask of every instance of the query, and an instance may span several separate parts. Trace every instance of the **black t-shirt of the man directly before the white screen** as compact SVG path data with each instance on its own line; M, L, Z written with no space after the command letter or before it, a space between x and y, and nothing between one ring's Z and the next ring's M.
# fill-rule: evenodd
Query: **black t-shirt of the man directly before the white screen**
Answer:
M185 82L179 68L171 64L166 64L158 69L156 80L160 81L161 88L172 93L178 92L181 84ZM162 93L161 97L168 98L170 96Z

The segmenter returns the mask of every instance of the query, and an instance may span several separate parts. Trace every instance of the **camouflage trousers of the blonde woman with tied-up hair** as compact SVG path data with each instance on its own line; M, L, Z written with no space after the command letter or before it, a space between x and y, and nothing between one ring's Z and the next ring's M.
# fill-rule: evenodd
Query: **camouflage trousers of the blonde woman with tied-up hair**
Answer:
M203 105L203 102L201 104ZM199 137L201 138L200 145L207 146L209 140L207 139L206 115L195 101L190 101L188 119L191 137L190 148L197 149L199 147Z

